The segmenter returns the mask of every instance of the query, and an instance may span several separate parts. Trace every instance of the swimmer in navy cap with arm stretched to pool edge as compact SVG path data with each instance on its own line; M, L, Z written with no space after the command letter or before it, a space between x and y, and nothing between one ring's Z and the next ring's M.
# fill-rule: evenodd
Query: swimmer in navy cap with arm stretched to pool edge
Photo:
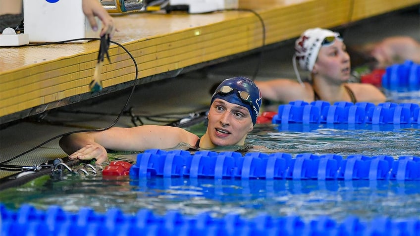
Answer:
M197 148L244 145L248 133L254 129L261 100L260 90L253 81L245 77L229 78L211 96L208 127L201 139L179 127L143 125L75 133L61 138L59 144L70 159L96 159L97 164L107 161L106 149L168 149L180 143Z

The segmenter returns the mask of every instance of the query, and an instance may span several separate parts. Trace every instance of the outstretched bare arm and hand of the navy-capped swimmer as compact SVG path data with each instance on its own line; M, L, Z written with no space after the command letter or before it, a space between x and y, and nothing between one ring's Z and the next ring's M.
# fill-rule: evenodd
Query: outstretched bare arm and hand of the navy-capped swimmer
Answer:
M171 126L144 125L132 128L113 127L101 132L75 133L61 138L60 147L71 159L107 160L107 149L140 151L165 149L185 142L194 146L198 136L184 129Z

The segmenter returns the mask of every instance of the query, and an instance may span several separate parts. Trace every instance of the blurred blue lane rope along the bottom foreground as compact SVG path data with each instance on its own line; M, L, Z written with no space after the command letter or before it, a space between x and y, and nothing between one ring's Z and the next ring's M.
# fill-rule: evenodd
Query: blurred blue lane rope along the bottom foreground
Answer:
M401 220L378 217L367 222L349 216L336 222L328 216L319 216L305 222L299 216L272 217L266 213L254 218L237 213L214 218L207 212L184 216L178 211L167 211L165 215L155 215L151 210L140 209L136 214L125 214L111 208L101 213L88 207L67 212L59 206L38 210L29 204L15 211L0 204L0 216L2 236L420 235L420 219L414 217Z

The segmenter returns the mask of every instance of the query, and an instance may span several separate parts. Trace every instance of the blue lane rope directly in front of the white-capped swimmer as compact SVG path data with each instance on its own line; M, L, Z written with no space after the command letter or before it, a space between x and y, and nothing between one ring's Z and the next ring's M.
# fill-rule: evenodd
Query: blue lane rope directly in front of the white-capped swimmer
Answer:
M420 124L420 106L416 103L291 101L278 106L273 124Z

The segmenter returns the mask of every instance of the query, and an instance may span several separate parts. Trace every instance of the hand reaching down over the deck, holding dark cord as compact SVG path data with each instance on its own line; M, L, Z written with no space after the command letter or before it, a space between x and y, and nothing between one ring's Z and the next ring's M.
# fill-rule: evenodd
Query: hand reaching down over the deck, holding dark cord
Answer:
M116 31L114 20L102 6L99 0L83 0L82 8L83 13L85 13L94 31L98 30L98 24L95 20L95 16L98 16L102 21L102 30L100 36L102 37L107 34L109 38L113 37Z

